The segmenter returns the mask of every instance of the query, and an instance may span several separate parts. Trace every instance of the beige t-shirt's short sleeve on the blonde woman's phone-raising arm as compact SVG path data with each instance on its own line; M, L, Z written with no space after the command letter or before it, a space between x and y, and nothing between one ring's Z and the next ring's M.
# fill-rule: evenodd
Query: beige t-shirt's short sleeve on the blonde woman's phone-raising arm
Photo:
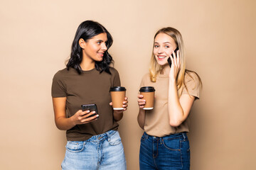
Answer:
M181 94L189 94L196 99L200 98L200 81L195 73L185 74L185 84L186 88L183 87Z

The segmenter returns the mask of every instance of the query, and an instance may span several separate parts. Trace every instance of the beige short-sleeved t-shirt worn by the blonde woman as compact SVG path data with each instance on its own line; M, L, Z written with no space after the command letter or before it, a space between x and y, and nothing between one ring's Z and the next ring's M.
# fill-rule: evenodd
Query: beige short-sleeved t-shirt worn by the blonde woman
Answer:
M182 94L190 94L195 96L196 99L199 98L200 86L199 80L196 74L193 72L185 74L185 84L188 89L183 88ZM145 74L142 78L140 87L142 86L154 86L155 100L154 109L151 111L146 111L146 118L144 124L144 130L147 134L163 137L166 135L171 135L178 132L189 132L189 117L178 127L172 127L169 124L169 114L168 114L168 92L169 92L169 76L164 74L158 74L156 77L156 82L150 80L149 74Z

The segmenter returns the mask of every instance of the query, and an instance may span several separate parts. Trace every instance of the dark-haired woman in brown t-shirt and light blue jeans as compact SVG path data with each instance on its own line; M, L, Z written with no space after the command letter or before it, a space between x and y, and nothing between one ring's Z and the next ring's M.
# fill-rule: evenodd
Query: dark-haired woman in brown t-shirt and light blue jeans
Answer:
M110 67L107 50L112 36L100 23L84 21L78 27L67 67L53 77L55 124L67 130L62 169L126 169L117 121L127 110L112 109L110 87L120 86L119 74ZM82 104L96 104L95 111L82 111Z

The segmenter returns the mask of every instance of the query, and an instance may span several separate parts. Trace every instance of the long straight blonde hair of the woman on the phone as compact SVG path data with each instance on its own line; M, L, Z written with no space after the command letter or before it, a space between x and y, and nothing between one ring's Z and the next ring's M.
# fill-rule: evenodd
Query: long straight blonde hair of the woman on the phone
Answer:
M166 27L166 28L161 28L160 30L157 31L157 33L154 35L154 40L156 38L156 35L158 35L159 33L165 33L166 35L169 35L171 38L173 38L179 50L181 69L178 72L176 81L177 81L177 88L178 88L178 96L180 97L183 86L186 88L186 84L184 82L185 73L188 73L188 76L191 77L189 73L193 72L186 69L185 51L184 51L182 36L181 36L181 33L175 28ZM153 46L153 50L154 50L154 46ZM156 82L156 76L157 74L160 74L162 69L163 67L156 62L156 58L154 57L154 52L152 51L150 67L149 67L150 79L152 82ZM196 74L196 72L193 72L193 73ZM201 85L200 77L198 76L198 74L196 74L196 76L198 77Z

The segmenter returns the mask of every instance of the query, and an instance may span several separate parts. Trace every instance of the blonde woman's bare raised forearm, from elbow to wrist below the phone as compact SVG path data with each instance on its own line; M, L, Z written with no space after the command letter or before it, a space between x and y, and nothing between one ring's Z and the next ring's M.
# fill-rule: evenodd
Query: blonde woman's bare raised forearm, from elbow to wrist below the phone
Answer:
M179 102L176 81L169 81L168 99L169 123L171 126L177 127L185 120L185 115Z

